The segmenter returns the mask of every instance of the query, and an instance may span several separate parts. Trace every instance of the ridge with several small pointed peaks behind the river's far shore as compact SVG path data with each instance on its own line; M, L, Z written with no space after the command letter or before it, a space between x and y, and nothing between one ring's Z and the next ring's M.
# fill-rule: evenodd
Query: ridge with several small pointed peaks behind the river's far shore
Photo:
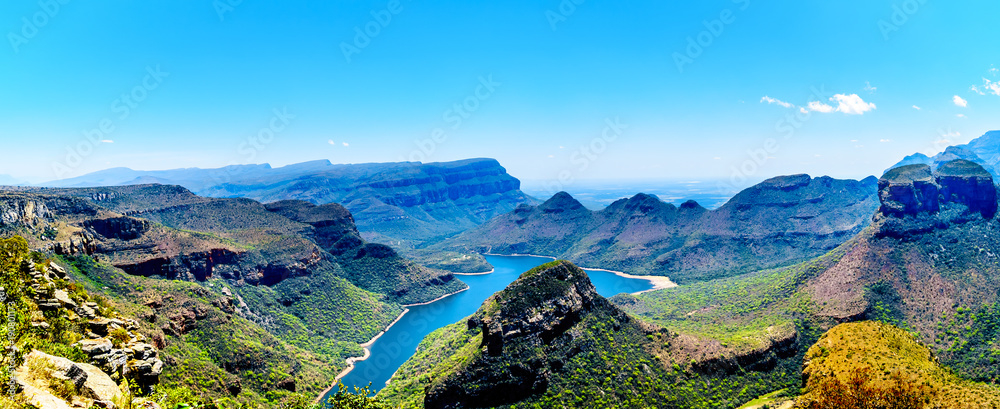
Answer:
M426 251L541 254L686 283L823 254L868 225L879 206L877 190L874 177L855 181L794 175L750 187L715 210L693 201L674 206L638 194L600 211L561 192Z

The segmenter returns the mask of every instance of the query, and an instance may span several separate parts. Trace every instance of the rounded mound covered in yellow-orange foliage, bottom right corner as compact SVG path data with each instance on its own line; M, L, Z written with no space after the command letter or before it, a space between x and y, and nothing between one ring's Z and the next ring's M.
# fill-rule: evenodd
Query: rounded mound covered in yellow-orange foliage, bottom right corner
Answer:
M919 394L924 408L1000 407L1000 388L962 380L941 367L909 333L885 323L838 325L809 348L805 359L808 393L799 398L802 407L836 394L831 382L845 389L862 383L854 389L905 390Z

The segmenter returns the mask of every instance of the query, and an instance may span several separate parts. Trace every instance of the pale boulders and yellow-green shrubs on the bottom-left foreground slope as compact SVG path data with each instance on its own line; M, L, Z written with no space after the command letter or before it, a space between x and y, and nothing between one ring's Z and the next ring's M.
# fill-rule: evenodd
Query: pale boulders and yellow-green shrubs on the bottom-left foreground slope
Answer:
M9 345L0 361L19 393L4 399L40 408L158 407L132 402L133 392L152 392L165 367L138 321L88 293L53 260L29 254L20 237L0 239L0 275Z

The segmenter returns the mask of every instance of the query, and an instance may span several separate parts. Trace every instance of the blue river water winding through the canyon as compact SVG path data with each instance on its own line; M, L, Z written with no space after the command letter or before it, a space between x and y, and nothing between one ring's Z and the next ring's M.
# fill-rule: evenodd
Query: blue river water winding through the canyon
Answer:
M486 259L495 267L492 273L460 276L469 284L468 290L428 305L410 307L410 312L371 346L371 357L356 363L354 370L344 377L344 384L351 388L363 387L370 382L373 391L382 389L396 370L417 351L424 337L472 315L483 301L506 288L521 273L552 260L531 256L486 256ZM624 278L604 271L587 272L598 294L605 297L653 287L646 280Z

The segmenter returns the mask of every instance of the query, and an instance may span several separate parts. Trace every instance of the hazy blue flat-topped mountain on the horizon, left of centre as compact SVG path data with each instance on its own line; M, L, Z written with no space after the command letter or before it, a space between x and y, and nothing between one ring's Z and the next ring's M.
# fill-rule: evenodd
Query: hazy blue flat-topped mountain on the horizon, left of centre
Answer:
M208 197L260 202L340 203L365 238L407 249L455 234L532 203L520 181L493 159L446 163L334 165L313 161L280 168L234 165L219 169L136 171L114 168L48 182L51 187L175 184Z

